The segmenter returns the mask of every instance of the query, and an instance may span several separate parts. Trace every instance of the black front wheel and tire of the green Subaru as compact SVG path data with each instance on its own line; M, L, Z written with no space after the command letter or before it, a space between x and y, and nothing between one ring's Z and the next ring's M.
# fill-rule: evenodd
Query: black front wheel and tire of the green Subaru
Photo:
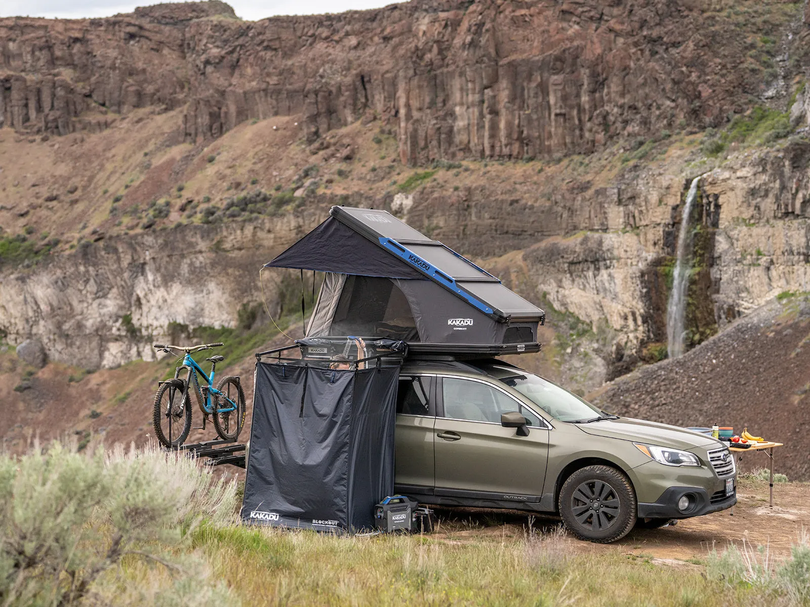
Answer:
M630 533L636 524L636 492L615 468L592 465L578 469L560 491L560 516L581 540L608 544Z

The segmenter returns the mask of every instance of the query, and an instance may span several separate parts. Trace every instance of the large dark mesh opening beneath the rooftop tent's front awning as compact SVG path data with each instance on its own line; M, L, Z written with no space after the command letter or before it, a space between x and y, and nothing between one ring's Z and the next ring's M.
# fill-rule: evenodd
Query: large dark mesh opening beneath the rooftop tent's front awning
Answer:
M388 278L349 276L340 294L330 335L390 337L419 342L405 294Z

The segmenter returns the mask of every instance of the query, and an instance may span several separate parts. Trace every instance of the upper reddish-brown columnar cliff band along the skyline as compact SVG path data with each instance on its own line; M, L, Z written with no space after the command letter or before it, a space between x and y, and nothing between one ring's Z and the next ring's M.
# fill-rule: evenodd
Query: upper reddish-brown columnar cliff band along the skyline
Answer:
M413 0L245 23L223 2L192 2L109 19L0 19L0 125L66 134L107 125L89 110L187 104L190 142L297 114L312 142L370 115L396 126L407 163L586 154L744 112L782 77L768 36L799 9Z

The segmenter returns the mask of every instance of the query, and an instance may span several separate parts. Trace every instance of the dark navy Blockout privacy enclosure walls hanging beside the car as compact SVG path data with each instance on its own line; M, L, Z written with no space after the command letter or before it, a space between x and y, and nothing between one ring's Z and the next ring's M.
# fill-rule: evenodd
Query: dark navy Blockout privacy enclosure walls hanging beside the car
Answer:
M354 532L394 491L399 367L257 363L246 522Z

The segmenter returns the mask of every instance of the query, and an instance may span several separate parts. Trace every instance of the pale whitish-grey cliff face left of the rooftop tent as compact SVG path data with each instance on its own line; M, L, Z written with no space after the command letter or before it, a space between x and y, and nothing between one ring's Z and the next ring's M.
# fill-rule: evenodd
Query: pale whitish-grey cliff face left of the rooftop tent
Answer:
M177 331L237 326L240 312L261 310L262 287L278 318L284 274L258 286L258 269L328 207L318 211L272 227L268 221L187 226L171 236L87 241L75 253L0 278L2 329L15 343L36 337L51 360L98 369L154 360L151 344L186 337Z

